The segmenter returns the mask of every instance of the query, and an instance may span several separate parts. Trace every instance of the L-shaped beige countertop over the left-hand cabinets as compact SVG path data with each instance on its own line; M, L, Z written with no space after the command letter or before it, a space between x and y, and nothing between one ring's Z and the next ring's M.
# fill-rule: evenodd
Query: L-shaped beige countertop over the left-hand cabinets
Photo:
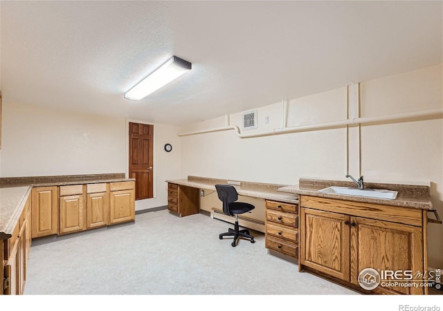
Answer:
M100 182L123 182L135 180L134 178L119 178L118 176L111 176L110 178L108 176L69 178L71 178L71 176L64 176L64 178L55 178L53 180L51 180L51 178L46 180L42 180L42 178L35 178L34 180L30 178L0 178L3 180L3 185L0 187L0 239L8 238L12 234L19 220L21 211L24 209L26 199L28 198L28 195L30 195L30 191L33 187L95 184ZM24 182L28 182L28 184L23 185ZM5 185L12 185L12 187L4 187Z

